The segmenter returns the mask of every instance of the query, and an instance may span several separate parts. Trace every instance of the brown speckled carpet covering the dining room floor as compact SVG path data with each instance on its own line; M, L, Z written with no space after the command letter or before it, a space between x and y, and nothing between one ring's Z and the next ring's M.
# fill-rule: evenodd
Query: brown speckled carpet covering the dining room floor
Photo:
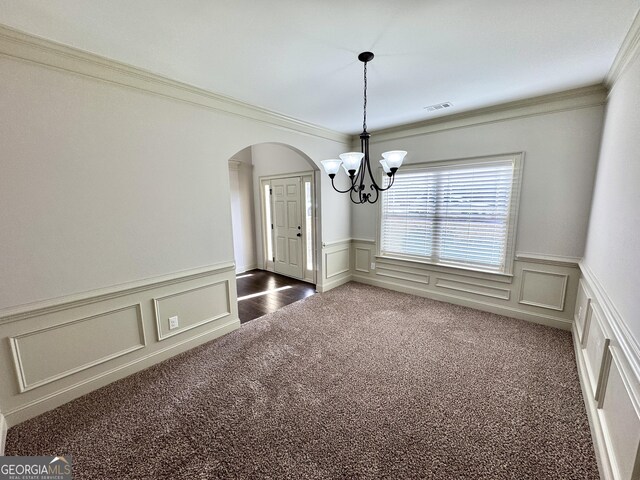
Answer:
M347 284L9 430L76 479L594 479L568 332Z

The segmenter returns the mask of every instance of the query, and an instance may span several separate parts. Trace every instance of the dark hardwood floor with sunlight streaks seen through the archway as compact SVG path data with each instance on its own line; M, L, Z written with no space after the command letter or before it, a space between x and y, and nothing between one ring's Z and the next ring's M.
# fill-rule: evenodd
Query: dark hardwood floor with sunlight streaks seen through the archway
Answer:
M315 285L264 270L237 275L240 323L275 312L316 293ZM271 291L270 291L271 290Z

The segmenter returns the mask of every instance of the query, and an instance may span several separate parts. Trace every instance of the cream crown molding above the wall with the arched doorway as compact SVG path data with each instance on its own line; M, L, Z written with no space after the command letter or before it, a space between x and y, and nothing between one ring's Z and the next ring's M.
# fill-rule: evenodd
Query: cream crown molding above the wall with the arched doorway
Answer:
M351 135L303 122L0 24L0 55L240 116L283 130L350 143Z

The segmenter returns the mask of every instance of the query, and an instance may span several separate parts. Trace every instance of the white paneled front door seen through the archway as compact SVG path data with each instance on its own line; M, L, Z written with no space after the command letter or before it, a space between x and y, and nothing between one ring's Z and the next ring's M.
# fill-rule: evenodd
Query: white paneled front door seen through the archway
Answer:
M303 278L300 177L271 180L276 273Z

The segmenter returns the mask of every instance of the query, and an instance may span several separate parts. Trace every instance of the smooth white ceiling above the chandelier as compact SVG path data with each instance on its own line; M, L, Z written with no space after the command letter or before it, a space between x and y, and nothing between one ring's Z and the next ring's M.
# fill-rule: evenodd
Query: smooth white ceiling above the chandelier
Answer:
M640 0L0 0L0 23L345 133L603 80Z

